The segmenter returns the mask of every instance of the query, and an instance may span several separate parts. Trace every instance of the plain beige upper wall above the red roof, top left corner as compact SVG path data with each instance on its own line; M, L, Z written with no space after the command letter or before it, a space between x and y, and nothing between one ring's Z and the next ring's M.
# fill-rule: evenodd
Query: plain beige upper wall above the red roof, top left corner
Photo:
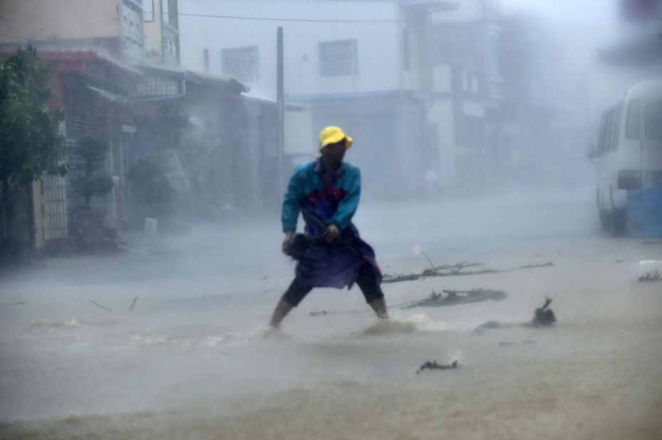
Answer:
M121 0L21 0L0 2L0 42L118 36Z

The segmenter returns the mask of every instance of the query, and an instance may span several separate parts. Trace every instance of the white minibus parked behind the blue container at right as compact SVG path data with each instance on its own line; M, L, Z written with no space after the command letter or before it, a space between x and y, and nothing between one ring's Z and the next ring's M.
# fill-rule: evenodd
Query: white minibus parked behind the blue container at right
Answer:
M627 229L627 190L662 187L662 80L634 85L602 114L597 147L596 200L604 229Z

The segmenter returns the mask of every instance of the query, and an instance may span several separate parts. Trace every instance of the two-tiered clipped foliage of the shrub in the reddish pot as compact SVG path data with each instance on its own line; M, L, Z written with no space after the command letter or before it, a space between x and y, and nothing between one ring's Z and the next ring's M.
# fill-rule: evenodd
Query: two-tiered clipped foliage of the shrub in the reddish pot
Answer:
M73 153L83 159L80 169L84 174L73 179L71 187L83 196L86 206L90 206L93 196L105 196L113 189L113 179L110 176L94 175L98 162L105 158L106 152L108 144L97 137L83 137L76 142L76 147L73 147Z

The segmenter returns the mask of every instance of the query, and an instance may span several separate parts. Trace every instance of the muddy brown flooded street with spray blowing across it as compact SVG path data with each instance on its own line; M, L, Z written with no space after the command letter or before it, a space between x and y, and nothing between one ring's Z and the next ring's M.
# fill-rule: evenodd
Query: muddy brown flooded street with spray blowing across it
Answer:
M356 288L314 290L278 332L294 266L275 217L4 273L0 438L661 438L662 284L637 278L662 245L605 236L590 191L363 201L355 223L385 273L428 268L416 245L435 265L553 266L384 284L392 305L508 294L388 325ZM554 328L474 331L546 296ZM416 374L428 360L459 367Z

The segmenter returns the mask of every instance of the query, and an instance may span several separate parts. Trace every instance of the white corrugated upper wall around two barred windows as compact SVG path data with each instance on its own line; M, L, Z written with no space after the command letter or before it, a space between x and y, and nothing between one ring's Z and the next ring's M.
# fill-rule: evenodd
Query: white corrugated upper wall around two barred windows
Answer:
M237 78L251 88L249 95L275 96L278 26L284 28L285 90L291 97L374 93L395 90L400 85L400 30L394 1L180 0L179 11L181 61L186 68L201 69L207 48L211 72L224 73L222 49L257 48L254 78ZM347 19L356 21L339 22ZM356 72L321 75L319 43L337 40L356 40Z

